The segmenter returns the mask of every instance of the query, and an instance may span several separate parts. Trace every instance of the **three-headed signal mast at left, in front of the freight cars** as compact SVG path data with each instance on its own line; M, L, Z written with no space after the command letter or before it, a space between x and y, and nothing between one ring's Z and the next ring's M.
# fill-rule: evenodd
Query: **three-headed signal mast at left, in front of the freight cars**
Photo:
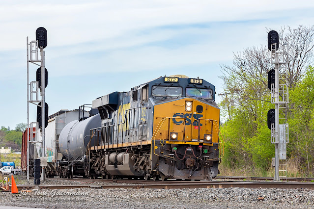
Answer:
M48 72L45 68L45 51L47 47L47 30L44 27L36 29L36 41L29 42L27 37L27 113L28 113L28 136L27 136L27 180L29 182L29 144L39 143L37 130L41 129L41 157L45 157L45 128L48 125L48 104L45 103L45 88L48 84ZM38 53L40 51L41 59ZM29 63L39 68L36 71L36 81L29 82ZM40 63L40 64L38 64ZM41 100L39 100L39 89ZM29 124L29 104L37 105L37 121ZM30 128L29 128L30 126ZM35 131L33 131L35 128ZM32 136L35 135L33 140ZM31 139L29 139L31 136ZM45 181L45 167L42 166L40 176L40 159L34 160L34 184L40 184L39 178Z

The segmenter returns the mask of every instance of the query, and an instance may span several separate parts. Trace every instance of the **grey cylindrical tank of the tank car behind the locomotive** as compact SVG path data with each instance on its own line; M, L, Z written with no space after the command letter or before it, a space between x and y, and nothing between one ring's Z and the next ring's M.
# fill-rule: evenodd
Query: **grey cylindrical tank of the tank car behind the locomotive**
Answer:
M85 120L75 120L66 125L59 136L59 149L62 155L70 160L79 160L86 153L90 129L101 127L100 115Z

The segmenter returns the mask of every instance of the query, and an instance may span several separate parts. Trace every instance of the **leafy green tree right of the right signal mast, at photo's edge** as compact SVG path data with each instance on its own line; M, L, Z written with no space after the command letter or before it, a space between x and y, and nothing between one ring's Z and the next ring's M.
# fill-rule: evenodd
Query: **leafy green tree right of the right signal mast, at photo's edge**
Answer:
M303 164L308 174L314 171L314 67L310 66L304 79L289 92L293 105L288 119L291 155Z

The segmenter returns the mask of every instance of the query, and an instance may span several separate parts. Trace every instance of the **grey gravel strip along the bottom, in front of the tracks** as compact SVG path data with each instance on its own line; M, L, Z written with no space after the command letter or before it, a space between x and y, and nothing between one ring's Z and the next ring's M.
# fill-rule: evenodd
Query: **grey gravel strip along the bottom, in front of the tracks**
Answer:
M40 189L2 192L0 198L2 206L56 209L314 208L314 190L309 189Z

